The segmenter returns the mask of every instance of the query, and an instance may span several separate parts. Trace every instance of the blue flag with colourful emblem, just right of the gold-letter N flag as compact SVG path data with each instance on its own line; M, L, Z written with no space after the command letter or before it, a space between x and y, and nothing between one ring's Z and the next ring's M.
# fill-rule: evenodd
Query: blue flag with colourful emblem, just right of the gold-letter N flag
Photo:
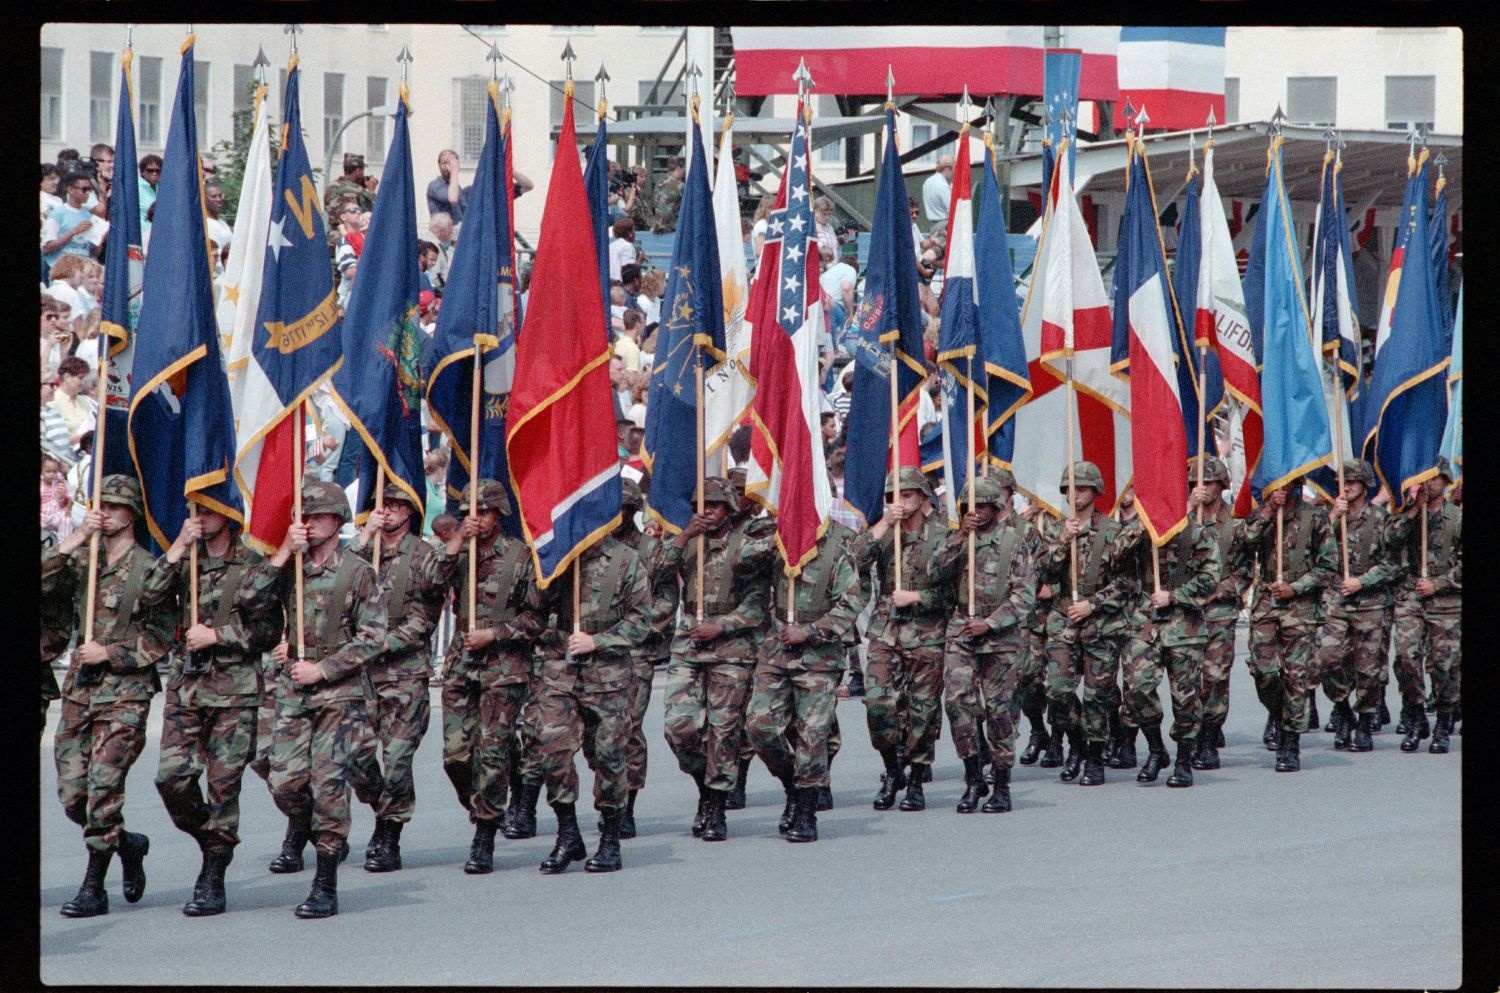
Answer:
M417 327L417 213L406 129L406 87L400 87L396 128L386 154L384 190L375 201L358 279L344 315L344 364L333 394L374 456L360 459L356 508L375 502L378 468L386 480L426 502L422 465L422 328Z

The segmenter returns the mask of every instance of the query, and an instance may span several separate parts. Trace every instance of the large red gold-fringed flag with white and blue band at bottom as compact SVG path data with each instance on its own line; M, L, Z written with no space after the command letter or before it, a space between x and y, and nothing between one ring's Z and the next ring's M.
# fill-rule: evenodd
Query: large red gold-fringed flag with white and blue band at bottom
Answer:
M591 246L588 196L573 130L573 81L531 270L531 300L516 340L506 454L531 546L537 585L548 586L620 524L620 459L604 300Z

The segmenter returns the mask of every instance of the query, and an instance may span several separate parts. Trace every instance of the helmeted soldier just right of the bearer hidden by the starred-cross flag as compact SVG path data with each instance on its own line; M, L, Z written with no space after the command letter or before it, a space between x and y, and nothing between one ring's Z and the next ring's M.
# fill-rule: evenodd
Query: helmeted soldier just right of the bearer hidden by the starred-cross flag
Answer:
M933 582L928 566L950 528L933 513L932 483L921 470L891 471L885 477L885 492L891 496L885 513L850 544L855 566L867 570L874 562L880 584L866 632L864 674L870 744L885 762L873 807L890 810L904 786L902 810L926 810L922 774L932 768L942 735L944 630L952 612L952 585ZM902 530L900 576L896 572L896 526ZM897 754L903 744L909 772Z

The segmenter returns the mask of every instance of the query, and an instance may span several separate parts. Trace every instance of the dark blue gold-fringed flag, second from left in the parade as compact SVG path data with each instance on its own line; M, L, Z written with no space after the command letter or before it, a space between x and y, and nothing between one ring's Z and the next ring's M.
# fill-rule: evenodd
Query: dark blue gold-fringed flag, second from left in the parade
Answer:
M204 230L194 120L194 46L184 46L156 188L152 261L135 344L129 440L152 540L166 548L188 501L242 522L230 384L219 358L213 262Z

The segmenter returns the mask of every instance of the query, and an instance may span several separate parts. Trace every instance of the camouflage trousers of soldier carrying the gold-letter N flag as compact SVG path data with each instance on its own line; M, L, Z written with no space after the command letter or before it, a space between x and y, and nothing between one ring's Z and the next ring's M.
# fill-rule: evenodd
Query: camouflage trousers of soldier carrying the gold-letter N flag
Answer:
M364 700L276 708L270 788L288 820L333 855L350 837L350 788L362 804L380 800L380 742Z

